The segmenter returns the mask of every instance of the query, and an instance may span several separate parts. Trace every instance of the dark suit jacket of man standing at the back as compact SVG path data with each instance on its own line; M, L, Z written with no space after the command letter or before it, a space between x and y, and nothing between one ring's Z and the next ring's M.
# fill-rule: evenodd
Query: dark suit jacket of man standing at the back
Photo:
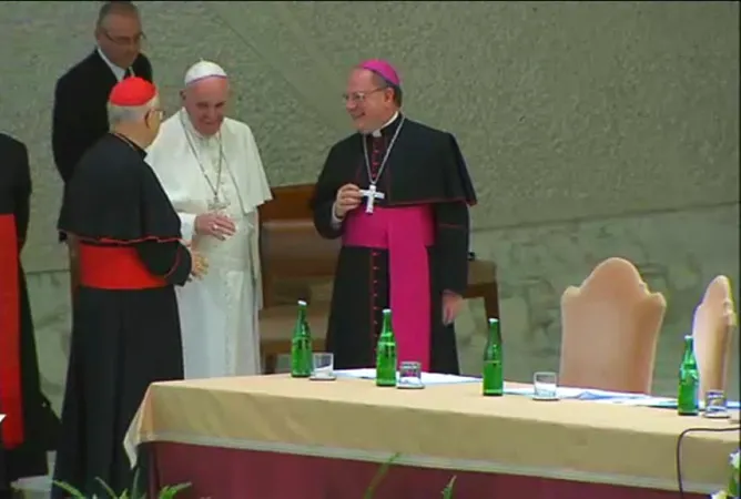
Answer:
M139 54L132 69L136 77L152 81L152 64L144 54ZM82 154L109 131L105 105L116 83L98 50L57 80L51 144L64 184Z

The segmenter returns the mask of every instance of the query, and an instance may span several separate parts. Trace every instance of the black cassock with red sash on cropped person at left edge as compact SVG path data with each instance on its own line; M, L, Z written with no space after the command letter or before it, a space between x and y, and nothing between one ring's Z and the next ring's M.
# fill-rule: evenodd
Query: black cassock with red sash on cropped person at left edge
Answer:
M10 482L47 475L59 419L41 393L33 323L20 253L29 224L26 145L0 134L0 497Z

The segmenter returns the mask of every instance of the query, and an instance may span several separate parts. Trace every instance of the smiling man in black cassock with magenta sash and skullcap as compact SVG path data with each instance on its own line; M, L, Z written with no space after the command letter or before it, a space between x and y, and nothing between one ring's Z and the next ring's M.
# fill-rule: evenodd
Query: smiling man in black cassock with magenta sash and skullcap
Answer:
M343 241L327 330L335 367L374 365L389 307L399 361L458 374L453 320L476 203L458 143L402 114L400 79L386 61L356 67L345 101L358 133L332 147L313 200L319 234Z

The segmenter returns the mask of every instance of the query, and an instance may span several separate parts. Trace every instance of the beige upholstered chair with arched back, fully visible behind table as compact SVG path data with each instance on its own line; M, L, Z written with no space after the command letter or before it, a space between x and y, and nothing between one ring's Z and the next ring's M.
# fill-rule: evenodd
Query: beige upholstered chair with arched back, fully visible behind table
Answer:
M597 265L561 296L559 385L650 393L666 308L630 262Z

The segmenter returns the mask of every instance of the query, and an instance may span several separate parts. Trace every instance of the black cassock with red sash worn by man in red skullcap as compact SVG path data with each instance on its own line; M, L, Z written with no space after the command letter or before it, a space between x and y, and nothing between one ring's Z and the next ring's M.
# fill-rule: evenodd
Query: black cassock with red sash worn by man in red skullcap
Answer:
M174 285L191 256L144 156L106 134L77 165L59 220L80 243L80 288L54 478L85 497L106 496L95 478L119 493L131 485L122 442L146 388L183 378Z

